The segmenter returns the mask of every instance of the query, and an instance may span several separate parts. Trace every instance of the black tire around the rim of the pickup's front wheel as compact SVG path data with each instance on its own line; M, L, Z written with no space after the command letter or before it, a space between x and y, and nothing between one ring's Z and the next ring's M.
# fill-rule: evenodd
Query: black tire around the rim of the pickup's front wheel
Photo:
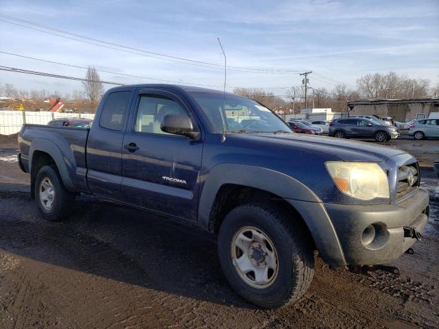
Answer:
M276 250L277 274L268 287L252 287L233 265L233 237L246 227L261 230ZM219 229L218 253L224 275L233 289L263 308L278 308L296 302L313 278L313 247L307 229L300 221L294 221L268 204L244 204L230 211Z

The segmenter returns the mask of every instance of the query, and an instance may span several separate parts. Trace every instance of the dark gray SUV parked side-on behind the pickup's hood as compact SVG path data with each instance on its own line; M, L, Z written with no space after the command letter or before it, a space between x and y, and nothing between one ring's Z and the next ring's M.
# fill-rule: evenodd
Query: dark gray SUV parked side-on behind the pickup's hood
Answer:
M381 125L369 119L339 119L330 123L329 136L337 138L375 138L377 142L389 141L401 136L398 128Z

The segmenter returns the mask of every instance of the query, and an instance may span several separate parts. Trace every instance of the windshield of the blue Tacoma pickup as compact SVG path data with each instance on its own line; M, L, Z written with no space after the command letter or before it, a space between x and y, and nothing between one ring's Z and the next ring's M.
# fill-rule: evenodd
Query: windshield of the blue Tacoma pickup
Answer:
M245 97L221 93L191 92L211 121L215 132L292 132L288 125L261 104ZM224 120L223 120L224 118Z

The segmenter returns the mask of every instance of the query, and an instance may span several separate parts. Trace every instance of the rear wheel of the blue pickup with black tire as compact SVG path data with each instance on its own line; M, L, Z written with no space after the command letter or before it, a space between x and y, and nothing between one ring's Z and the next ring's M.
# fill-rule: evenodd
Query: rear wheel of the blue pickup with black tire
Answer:
M51 199L51 207L47 206L41 192L43 184L51 185L50 189L54 192ZM44 188L44 186L43 186ZM47 190L49 191L49 189ZM35 178L35 201L38 210L43 218L47 221L61 221L71 214L71 210L75 205L75 194L67 191L62 184L62 180L56 167L43 166L40 168Z

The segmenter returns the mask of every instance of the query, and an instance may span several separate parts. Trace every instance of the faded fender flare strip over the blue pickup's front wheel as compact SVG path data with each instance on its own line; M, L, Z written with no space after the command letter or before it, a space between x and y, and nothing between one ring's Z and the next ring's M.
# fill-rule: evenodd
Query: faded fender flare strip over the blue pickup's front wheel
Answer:
M302 182L272 169L232 163L213 167L207 175L198 207L198 225L204 230L209 230L211 209L219 188L224 184L259 188L282 197L305 221L323 260L334 266L346 263L340 240L322 200Z

